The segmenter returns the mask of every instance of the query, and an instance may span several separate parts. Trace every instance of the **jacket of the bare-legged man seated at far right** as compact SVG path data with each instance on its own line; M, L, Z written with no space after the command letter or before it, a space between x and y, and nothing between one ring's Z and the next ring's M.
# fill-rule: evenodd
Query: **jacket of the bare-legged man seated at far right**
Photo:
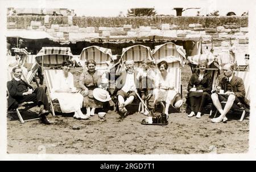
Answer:
M224 89L226 91L226 78L222 78L221 82L218 86L221 87L221 89ZM235 93L236 97L240 100L242 104L245 104L249 106L249 101L245 98L245 85L243 84L243 80L237 76L232 77L232 80L230 81L231 84L231 90Z

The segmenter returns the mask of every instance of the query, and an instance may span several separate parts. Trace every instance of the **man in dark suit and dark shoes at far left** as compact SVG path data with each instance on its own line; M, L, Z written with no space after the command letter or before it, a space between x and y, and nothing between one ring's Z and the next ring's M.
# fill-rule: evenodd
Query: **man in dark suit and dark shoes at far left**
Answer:
M49 102L43 87L38 87L33 90L32 86L26 81L22 80L22 68L13 68L14 78L7 82L7 89L9 91L8 109L18 108L18 104L22 102L38 102L40 107L39 117L42 123L51 124L47 115L49 114Z

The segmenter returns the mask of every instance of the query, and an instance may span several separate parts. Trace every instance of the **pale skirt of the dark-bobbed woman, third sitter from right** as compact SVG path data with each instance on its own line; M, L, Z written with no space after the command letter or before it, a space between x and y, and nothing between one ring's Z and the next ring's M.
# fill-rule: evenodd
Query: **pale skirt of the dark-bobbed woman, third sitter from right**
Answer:
M154 89L153 93L155 96L154 102L165 101L170 104L177 92L174 90Z

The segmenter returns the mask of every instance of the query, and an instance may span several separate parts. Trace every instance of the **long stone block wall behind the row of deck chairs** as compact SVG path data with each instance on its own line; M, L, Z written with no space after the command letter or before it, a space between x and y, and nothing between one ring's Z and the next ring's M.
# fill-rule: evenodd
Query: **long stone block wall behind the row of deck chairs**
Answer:
M158 35L178 38L201 37L203 51L212 46L214 53L230 48L232 42L240 53L248 51L247 16L155 16L129 18L94 18L78 16L8 16L7 29L46 31L60 40L107 37L142 37Z

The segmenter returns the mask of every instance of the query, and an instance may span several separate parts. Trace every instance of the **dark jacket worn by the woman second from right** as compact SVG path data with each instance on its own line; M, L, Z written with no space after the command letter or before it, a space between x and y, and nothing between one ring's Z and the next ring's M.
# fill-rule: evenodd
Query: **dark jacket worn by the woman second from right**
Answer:
M203 80L199 80L199 71L192 74L189 83L188 83L188 91L193 88L193 85L195 85L196 89L203 89L204 92L210 92L212 91L212 76L208 74L208 72L204 73Z

